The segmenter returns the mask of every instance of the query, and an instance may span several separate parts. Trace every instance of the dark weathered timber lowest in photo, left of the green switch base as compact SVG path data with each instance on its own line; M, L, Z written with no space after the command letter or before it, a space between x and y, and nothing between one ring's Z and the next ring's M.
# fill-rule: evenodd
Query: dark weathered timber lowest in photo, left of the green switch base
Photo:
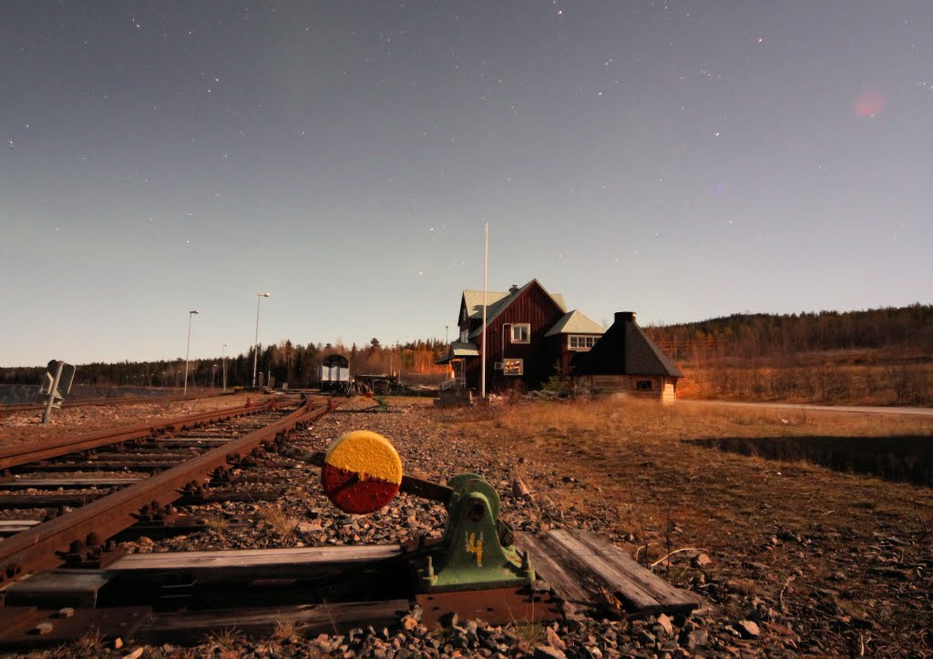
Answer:
M367 625L376 629L391 627L397 625L410 606L408 599L389 599L381 602L155 613L139 628L133 639L144 643L179 643L202 639L223 629L261 636L268 635L276 625L288 623L294 623L307 638L314 638L321 633L336 634Z

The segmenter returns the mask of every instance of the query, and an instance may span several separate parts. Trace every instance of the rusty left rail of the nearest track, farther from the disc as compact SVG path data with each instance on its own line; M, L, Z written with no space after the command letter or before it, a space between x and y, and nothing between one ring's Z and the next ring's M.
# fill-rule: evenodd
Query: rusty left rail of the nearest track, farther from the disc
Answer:
M21 444L19 446L7 446L6 448L0 449L0 469L18 467L22 464L35 462L36 460L58 458L68 453L86 451L98 446L118 444L119 442L126 442L132 439L150 437L159 432L176 432L200 423L211 423L221 419L240 417L245 414L256 414L267 410L270 405L271 402L266 401L259 405L251 405L249 407L228 407L213 412L199 412L198 414L191 414L186 417L153 420L132 426L122 426L112 430L88 432L86 434L65 437L49 442L33 442L30 444Z

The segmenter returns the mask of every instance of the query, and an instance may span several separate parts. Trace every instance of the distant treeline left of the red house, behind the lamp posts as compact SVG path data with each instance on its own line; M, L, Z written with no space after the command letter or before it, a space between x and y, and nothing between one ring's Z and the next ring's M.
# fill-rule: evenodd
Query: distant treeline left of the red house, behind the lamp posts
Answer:
M359 348L338 342L293 344L290 340L270 346L260 346L257 381L287 383L293 388L311 387L317 382L318 366L327 355L340 353L350 360L354 374L441 374L446 366L435 364L444 352L441 341L416 340L404 344L383 346L378 338ZM253 381L252 348L228 356L227 386L249 386ZM113 385L132 387L181 387L185 380L185 360L159 362L117 362L114 364L76 364L76 385ZM223 360L192 359L188 363L189 387L220 387L223 380ZM0 368L0 384L38 384L45 366Z

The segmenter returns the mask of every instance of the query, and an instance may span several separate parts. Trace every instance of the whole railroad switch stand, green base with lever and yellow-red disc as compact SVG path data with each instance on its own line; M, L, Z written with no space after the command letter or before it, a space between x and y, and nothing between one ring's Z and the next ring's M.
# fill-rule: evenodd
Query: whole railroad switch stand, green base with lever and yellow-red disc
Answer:
M499 520L499 495L477 474L454 476L447 486L402 476L395 446L376 432L348 432L316 454L327 498L348 513L374 513L399 491L447 510L439 542L422 542L412 556L414 590L448 593L531 585L535 570ZM424 541L424 539L423 539Z

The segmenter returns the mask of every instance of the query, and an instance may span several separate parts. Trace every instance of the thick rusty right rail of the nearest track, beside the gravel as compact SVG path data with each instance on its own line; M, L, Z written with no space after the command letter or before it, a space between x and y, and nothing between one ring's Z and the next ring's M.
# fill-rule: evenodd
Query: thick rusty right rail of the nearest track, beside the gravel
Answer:
M227 468L254 448L271 443L299 423L312 421L324 414L327 414L327 407L313 410L307 406L299 407L265 428L0 542L0 579L59 565L62 559L57 555L69 548L83 547L91 537L95 542L101 542L131 527L136 522L133 515L144 506L160 507L176 501L182 496L180 490L191 481L205 480L217 468Z

